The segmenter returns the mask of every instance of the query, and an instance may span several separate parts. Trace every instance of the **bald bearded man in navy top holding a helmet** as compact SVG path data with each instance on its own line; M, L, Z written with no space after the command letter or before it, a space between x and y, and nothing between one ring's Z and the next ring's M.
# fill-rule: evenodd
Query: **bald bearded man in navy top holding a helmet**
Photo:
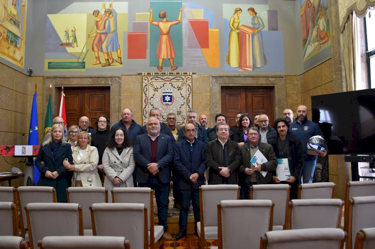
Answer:
M307 142L310 137L316 135L323 136L323 134L316 123L307 120L308 111L306 106L298 106L296 114L297 118L290 124L289 132L302 142L302 152L304 156L302 183L312 183L317 156L307 154ZM317 151L317 154L323 157L327 152Z

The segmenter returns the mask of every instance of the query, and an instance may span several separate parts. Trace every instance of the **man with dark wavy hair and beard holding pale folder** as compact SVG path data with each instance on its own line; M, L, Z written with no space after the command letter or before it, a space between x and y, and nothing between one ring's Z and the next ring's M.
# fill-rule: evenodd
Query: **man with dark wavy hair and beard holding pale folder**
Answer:
M285 112L285 111L284 111ZM290 185L290 200L297 199L297 186L303 169L302 144L299 139L289 134L289 123L286 119L278 118L274 121L273 128L277 131L276 142L272 144L273 151L278 159L287 159L290 177L285 182ZM280 183L273 171L273 182Z

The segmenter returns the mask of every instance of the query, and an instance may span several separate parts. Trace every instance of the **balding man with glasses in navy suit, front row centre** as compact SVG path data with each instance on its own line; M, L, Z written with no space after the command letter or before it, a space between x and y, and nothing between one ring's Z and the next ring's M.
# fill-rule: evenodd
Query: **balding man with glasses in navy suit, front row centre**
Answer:
M175 183L178 189L181 208L179 210L179 233L176 240L186 236L187 213L190 201L196 223L200 221L199 187L204 184L205 157L203 142L195 139L195 125L187 123L183 134L185 139L176 143L174 147Z

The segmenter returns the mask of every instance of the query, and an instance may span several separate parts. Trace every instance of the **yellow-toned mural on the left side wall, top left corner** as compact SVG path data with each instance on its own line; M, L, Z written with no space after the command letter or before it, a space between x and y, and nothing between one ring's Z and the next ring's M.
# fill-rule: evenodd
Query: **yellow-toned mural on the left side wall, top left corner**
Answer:
M0 0L0 57L24 67L27 0Z

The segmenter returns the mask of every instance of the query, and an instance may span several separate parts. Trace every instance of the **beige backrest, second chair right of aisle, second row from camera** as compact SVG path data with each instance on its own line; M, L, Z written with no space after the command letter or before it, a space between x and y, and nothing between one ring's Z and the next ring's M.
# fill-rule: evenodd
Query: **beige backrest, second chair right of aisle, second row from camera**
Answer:
M291 200L288 229L340 228L342 209L340 199Z

